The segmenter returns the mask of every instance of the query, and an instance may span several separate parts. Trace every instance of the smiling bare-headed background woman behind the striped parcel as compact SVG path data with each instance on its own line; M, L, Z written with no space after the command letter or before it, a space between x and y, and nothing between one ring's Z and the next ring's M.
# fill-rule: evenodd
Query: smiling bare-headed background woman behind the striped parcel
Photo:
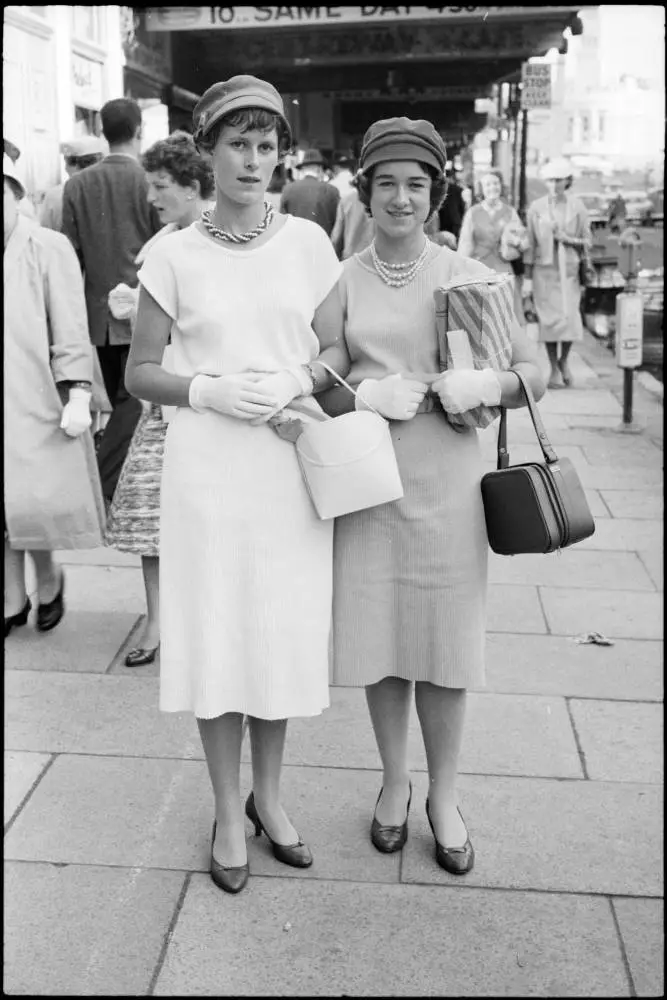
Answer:
M502 174L487 171L481 178L481 202L471 205L463 216L458 251L472 257L499 274L511 274L514 279L514 312L523 326L521 287L512 262L520 258L528 246L526 230L515 208L503 200Z

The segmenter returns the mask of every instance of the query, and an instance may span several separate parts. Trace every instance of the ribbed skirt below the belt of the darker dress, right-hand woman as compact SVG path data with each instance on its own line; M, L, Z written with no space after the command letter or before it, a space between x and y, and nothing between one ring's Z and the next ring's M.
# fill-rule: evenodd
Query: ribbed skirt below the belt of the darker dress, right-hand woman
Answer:
M334 683L484 684L488 541L477 433L442 411L391 425L405 496L338 518Z

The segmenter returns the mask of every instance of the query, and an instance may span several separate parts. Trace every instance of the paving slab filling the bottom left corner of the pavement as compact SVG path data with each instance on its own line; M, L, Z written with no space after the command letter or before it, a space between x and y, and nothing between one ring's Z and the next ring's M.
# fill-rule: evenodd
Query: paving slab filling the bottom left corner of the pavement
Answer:
M145 996L182 872L5 863L5 995Z

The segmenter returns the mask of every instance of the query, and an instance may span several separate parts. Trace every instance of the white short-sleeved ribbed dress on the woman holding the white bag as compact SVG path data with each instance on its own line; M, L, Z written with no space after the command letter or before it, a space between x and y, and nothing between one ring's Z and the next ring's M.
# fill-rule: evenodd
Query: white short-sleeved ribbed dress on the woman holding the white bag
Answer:
M324 231L288 216L243 251L190 226L153 247L139 280L173 320L173 370L192 376L312 361L313 316L340 273ZM162 475L163 711L284 719L328 706L332 535L293 444L267 424L176 411Z

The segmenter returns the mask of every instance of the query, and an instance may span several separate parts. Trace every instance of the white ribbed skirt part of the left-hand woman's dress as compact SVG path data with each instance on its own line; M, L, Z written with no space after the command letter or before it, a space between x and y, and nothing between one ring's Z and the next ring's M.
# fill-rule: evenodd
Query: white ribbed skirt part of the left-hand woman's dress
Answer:
M329 705L333 525L294 445L267 425L179 409L160 519L160 708L211 719Z

